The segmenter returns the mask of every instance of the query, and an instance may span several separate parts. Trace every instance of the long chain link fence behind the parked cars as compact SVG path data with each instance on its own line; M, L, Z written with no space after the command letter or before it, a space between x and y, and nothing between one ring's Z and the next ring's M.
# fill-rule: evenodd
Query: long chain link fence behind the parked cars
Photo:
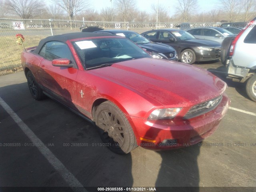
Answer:
M25 38L25 48L37 46L39 41L47 36L81 32L83 28L95 26L117 30L131 30L142 33L153 29L163 28L187 28L188 26L216 26L216 23L124 23L124 22L89 22L68 20L19 20L0 18L0 75L22 70L20 54L23 47L16 42L16 34L22 34Z

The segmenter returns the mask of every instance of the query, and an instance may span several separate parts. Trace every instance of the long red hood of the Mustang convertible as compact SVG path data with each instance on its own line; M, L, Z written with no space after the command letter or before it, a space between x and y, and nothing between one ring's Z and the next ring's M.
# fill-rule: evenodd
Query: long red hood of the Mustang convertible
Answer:
M206 70L151 58L119 62L90 72L166 107L193 106L220 96L226 89L225 82Z

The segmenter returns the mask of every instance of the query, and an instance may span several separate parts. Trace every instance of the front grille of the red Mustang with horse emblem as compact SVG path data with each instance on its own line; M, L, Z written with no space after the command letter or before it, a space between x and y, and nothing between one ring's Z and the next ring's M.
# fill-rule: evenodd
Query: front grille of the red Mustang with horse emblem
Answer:
M191 119L214 110L222 100L222 95L212 100L193 106L184 116L184 119Z

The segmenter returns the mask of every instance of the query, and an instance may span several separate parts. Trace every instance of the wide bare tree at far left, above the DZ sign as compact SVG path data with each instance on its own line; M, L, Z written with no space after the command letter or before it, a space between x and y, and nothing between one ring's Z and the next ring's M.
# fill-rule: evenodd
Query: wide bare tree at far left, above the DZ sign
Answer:
M44 10L42 0L6 0L8 13L20 16L22 19L30 19L40 15Z

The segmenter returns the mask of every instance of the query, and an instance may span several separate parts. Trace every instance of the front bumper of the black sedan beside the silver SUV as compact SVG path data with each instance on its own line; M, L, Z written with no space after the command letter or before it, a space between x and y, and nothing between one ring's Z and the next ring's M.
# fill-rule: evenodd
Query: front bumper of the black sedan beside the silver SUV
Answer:
M220 49L212 51L196 50L196 61L212 61L220 59Z

